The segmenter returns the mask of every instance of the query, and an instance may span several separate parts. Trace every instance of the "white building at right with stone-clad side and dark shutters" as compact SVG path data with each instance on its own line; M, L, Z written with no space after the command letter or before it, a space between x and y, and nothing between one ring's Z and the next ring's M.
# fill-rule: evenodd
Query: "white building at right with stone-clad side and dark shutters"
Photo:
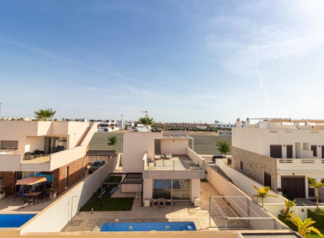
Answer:
M258 118L232 130L232 167L293 198L313 197L307 177L324 178L324 121Z

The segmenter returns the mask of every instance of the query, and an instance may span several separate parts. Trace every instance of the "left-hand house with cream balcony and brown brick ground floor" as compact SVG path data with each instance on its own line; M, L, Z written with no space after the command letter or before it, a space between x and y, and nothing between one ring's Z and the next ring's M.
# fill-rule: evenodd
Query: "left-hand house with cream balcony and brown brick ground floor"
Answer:
M89 122L0 121L0 177L6 194L19 190L17 180L32 176L46 177L43 183L59 192L77 183L85 176L85 154L97 127Z

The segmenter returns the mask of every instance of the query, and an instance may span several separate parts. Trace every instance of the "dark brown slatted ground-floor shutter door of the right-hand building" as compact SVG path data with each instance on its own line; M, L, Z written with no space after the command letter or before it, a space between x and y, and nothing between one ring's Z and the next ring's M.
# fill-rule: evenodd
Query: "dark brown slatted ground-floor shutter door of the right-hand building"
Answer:
M305 177L281 177L281 189L292 197L305 197Z

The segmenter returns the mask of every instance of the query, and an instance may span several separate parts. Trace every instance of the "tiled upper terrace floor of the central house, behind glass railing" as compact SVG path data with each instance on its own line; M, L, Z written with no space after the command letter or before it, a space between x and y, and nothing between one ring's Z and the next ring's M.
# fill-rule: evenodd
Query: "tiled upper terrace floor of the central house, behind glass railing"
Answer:
M190 166L197 165L187 155L172 155L169 160L160 159L148 163L147 170L190 170Z

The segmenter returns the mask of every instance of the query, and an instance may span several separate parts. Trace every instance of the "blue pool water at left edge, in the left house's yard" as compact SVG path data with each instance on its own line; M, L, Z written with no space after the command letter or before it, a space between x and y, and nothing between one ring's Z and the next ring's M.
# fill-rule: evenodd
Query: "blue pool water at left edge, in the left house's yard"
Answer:
M36 214L0 214L0 228L21 227Z

